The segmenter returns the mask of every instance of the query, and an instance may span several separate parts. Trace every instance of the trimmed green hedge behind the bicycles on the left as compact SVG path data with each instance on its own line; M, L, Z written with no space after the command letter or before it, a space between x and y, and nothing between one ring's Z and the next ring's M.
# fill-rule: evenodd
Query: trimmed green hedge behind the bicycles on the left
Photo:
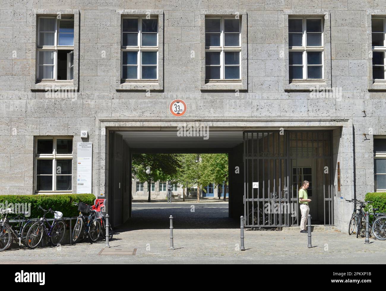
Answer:
M86 204L94 204L95 196L93 194L55 194L55 195L0 195L0 207L5 207L5 201L10 203L31 203L31 214L29 218L39 218L43 216L43 211L38 208L48 210L52 208L54 211L63 213L63 217L78 216L78 206L73 206L72 203L82 201ZM8 206L9 207L9 206ZM27 211L25 209L24 211ZM15 216L15 215L12 215ZM12 217L9 215L9 217ZM51 213L47 213L46 218L53 218Z

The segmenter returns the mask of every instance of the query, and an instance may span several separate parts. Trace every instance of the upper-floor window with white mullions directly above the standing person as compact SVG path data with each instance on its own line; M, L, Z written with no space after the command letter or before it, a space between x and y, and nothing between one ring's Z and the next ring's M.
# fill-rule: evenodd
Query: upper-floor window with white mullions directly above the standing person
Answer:
M290 80L323 80L322 25L322 18L288 19Z

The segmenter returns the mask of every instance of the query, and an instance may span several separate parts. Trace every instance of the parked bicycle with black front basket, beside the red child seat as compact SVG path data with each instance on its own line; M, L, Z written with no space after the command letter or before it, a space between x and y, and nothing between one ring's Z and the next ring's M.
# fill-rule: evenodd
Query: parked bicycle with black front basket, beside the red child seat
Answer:
M83 202L73 203L73 205L78 206L79 210L79 216L76 219L72 235L73 242L80 239L82 234L83 236L81 240L87 237L91 243L96 242L101 233L101 224L97 219L97 211L93 210L90 205ZM87 222L83 213L88 213Z

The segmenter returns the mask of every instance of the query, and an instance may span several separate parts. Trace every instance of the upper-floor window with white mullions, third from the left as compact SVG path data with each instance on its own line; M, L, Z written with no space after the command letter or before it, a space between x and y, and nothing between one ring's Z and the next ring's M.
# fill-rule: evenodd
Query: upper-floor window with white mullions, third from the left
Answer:
M205 80L240 80L241 22L205 18Z

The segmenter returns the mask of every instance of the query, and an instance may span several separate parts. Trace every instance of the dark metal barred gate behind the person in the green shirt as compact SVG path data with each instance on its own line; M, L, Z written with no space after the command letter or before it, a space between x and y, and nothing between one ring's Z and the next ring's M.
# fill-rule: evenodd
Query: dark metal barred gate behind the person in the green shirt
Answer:
M245 227L299 225L304 177L315 197L312 216L333 225L331 136L327 130L244 132Z

